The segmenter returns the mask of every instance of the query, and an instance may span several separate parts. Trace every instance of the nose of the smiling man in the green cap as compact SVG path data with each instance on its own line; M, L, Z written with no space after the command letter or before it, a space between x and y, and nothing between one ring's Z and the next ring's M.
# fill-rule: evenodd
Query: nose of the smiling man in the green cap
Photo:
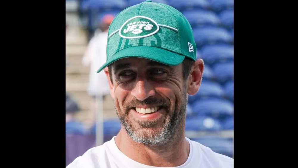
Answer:
M145 100L150 96L155 95L155 90L150 81L138 80L136 81L136 86L131 90L131 95L140 101Z

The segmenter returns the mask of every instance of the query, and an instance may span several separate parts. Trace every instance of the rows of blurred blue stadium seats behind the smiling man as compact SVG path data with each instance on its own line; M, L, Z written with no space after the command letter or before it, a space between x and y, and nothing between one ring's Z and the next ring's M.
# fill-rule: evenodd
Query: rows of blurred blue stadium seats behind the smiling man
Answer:
M86 14L87 31L92 33L104 14L117 15L121 10L143 1L145 0L81 0L79 10ZM192 140L216 152L233 157L234 1L187 0L187 3L181 0L152 1L169 4L184 14L193 28L197 58L202 58L205 63L201 87L197 94L189 96L188 99L186 136L189 135ZM69 124L69 128L71 127L75 126ZM104 141L110 140L119 130L119 121L105 120ZM187 134L188 131L190 134ZM227 131L229 133L225 134ZM72 131L66 129L67 132ZM95 134L95 126L90 133Z

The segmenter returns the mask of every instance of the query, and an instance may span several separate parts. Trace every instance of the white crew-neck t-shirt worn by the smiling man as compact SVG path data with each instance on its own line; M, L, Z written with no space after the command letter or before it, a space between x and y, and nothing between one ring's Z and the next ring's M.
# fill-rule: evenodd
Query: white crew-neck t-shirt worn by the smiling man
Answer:
M114 137L115 138L115 137ZM77 157L66 168L159 168L140 164L126 155L117 147L114 138L103 145L89 149ZM213 152L210 148L191 141L187 161L175 168L233 168L234 159Z

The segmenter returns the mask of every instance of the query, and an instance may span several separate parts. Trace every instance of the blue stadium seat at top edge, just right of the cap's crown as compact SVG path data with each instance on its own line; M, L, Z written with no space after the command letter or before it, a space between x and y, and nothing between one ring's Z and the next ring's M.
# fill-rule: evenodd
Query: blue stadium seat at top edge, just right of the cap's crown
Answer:
M180 12L185 10L198 10L198 9L207 9L209 8L209 2L207 0L169 0L168 4Z

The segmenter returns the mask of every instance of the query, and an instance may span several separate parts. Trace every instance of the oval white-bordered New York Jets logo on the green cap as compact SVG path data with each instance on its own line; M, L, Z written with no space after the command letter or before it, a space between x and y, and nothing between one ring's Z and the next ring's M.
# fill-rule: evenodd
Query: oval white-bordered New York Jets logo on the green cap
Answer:
M159 25L151 18L134 16L121 26L119 35L123 38L143 38L157 33Z

